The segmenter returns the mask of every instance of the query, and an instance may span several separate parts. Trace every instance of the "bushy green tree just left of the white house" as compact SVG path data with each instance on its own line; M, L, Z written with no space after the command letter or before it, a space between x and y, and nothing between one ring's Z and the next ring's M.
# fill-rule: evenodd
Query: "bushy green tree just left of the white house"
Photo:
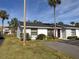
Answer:
M16 33L16 30L18 28L18 19L12 18L11 21L8 22L9 27L13 33Z

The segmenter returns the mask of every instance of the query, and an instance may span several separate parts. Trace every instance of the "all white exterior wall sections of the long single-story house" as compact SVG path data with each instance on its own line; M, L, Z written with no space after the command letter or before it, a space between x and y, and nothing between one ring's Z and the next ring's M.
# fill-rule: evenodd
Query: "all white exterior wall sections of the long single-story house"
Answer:
M72 32L71 32L71 29L65 29L66 30L66 38L64 39L67 39L68 36L72 36ZM24 30L23 30L24 31ZM26 29L26 32L29 33L29 35L31 36L31 39L32 40L35 40L37 35L39 34L45 34L45 35L48 35L47 34L47 29L37 29L37 35L31 35L31 29ZM56 31L56 34L57 34L57 31ZM56 35L57 36L57 35ZM76 36L79 37L79 29L76 29ZM62 32L62 29L60 30L60 38L63 39L63 32Z

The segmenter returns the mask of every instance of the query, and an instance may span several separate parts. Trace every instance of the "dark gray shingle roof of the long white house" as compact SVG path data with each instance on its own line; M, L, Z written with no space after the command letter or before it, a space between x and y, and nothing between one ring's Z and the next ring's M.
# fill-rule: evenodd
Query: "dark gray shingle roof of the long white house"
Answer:
M24 25L23 22L19 22L21 26ZM50 24L50 23L30 23L27 22L26 23L27 26L40 26L40 27L54 27L54 24ZM56 25L57 27L76 27L76 26L72 26L72 25L68 25L68 24L64 24L64 25Z

